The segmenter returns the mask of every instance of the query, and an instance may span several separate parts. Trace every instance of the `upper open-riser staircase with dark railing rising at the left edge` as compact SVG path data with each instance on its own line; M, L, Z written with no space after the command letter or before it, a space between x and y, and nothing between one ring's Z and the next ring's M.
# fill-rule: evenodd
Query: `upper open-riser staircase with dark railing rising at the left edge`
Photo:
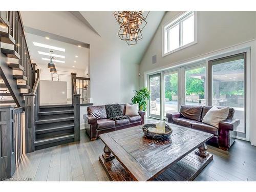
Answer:
M0 106L24 106L23 94L31 91L36 65L33 68L19 12L1 12L0 25Z

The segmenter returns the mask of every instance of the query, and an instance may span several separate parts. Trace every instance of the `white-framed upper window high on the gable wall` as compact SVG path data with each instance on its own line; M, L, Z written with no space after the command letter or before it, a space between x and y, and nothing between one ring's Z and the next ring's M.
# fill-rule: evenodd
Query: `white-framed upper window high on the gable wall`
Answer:
M178 16L163 27L163 56L195 44L196 12L189 11Z

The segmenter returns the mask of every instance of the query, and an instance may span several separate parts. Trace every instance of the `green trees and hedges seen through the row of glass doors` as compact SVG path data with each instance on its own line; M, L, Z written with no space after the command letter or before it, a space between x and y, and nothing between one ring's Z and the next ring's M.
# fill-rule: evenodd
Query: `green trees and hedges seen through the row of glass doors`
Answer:
M220 65L219 65L220 64ZM229 62L220 62L212 66L212 71L217 76L226 78L225 81L214 79L213 94L216 98L220 95L225 95L225 98L231 98L233 96L244 95L244 82L243 80L230 80L226 74L238 74L241 76L244 70L244 60L238 59ZM198 95L199 99L203 99L205 96L205 76L206 68L199 67L185 71L185 94L187 96ZM236 78L237 75L232 76ZM160 77L155 76L150 78L150 90L151 100L160 98ZM177 101L178 95L178 74L173 73L164 76L164 90L165 99L169 101Z

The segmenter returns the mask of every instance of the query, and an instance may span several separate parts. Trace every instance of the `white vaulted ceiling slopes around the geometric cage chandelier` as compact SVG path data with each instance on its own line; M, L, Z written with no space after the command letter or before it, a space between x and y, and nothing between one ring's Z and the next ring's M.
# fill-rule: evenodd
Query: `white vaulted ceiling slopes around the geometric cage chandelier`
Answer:
M137 45L133 46L128 46L126 42L121 40L117 35L120 28L113 15L114 11L80 11L79 13L90 24L88 27L95 30L102 38L108 39L113 44L118 45L121 50L122 59L129 59L133 60L135 63L140 63L165 11L151 11L148 14L146 18L147 25L142 30L143 38L138 41Z

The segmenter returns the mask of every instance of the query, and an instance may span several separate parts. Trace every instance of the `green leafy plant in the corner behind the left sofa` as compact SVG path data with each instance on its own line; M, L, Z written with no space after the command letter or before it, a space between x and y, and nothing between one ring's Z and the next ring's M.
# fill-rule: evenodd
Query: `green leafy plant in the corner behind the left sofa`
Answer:
M150 91L147 88L142 88L139 91L134 90L135 95L131 99L133 104L139 104L140 111L146 111L147 101L150 99Z

